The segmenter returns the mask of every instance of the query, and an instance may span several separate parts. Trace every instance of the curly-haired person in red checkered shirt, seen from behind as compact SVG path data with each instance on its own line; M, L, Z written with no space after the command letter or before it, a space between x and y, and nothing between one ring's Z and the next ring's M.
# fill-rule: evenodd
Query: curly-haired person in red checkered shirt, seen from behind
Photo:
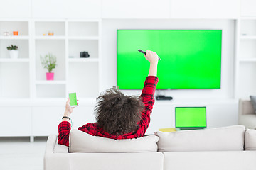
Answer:
M97 98L96 123L87 123L78 128L93 136L107 137L112 139L131 139L143 137L149 127L150 114L154 105L154 93L158 78L156 52L147 50L144 55L150 62L149 75L144 82L141 96L125 96L115 87L108 89ZM62 122L58 125L58 144L69 146L69 122L71 108L70 101L65 105Z

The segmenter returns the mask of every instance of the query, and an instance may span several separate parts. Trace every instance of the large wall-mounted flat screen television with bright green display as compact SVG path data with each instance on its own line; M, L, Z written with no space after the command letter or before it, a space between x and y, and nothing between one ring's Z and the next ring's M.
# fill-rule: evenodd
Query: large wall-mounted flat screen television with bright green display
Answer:
M117 30L117 86L142 89L157 52L157 89L220 89L222 30Z

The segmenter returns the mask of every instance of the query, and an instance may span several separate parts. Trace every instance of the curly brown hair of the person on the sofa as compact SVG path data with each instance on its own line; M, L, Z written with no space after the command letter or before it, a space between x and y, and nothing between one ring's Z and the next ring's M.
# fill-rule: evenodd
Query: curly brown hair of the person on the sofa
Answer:
M97 124L110 135L123 135L139 128L144 103L139 96L125 96L117 87L107 89L95 106Z

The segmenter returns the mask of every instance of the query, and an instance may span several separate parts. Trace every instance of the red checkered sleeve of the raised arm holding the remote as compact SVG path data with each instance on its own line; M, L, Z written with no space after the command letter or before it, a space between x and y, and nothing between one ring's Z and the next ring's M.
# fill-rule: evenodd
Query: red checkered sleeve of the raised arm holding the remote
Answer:
M157 77L146 77L144 82L144 88L142 89L141 98L145 105L144 111L142 111L142 119L139 122L139 129L137 130L137 137L145 135L146 129L149 127L150 114L154 105L154 93L156 91L156 85L158 82Z

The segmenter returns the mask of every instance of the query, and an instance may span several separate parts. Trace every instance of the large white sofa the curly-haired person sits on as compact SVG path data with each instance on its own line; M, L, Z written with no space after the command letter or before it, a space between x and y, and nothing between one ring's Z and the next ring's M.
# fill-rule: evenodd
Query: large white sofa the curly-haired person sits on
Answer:
M85 135L84 140L87 140L87 145L82 146L81 141L77 142L78 138L73 139L75 135L72 133L76 132L75 130L70 132L72 153L68 152L68 147L56 143L56 135L48 137L44 157L45 170L256 169L256 130L245 131L243 125L208 130L156 132L155 137L145 137L144 140L139 141L146 146L139 145L138 140L134 146L134 140L131 140L133 144L129 145L127 144L129 140L124 142L111 139L107 139L102 145L102 141L99 142L99 140L106 138L93 138L84 132L81 135ZM152 140L156 137L158 142ZM151 140L152 145L149 145L150 142L145 139ZM154 151L155 142L157 142L158 151ZM107 150L102 148L106 143L107 145L112 143ZM117 151L117 148L122 145L126 146L124 147L126 152ZM132 147L136 149L138 146L144 147L145 150L139 152L132 150ZM94 149L96 151L92 152ZM102 153L99 149L102 149ZM127 152L127 149L131 152ZM79 150L85 153L78 152ZM112 150L116 153L111 152Z

